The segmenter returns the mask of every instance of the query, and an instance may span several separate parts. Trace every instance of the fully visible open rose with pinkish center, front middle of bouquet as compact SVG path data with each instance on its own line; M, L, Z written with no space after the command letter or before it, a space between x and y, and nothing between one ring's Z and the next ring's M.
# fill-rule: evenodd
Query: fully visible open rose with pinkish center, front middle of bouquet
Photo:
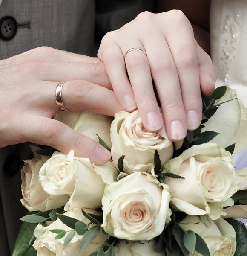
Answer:
M106 187L103 228L121 239L151 240L170 220L168 187L151 174L134 172Z

